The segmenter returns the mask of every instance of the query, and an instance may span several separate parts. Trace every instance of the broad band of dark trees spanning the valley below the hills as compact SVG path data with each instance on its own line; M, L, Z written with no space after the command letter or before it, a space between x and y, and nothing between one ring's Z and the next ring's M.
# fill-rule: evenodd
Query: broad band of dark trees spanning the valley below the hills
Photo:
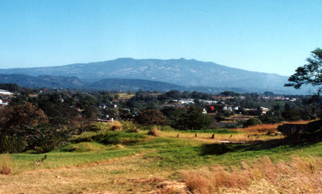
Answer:
M180 92L166 93L139 91L119 94L117 92L74 90L48 90L20 88L15 84L3 85L9 91L19 91L8 106L0 109L0 153L33 150L37 153L59 148L71 135L90 129L98 118L106 117L134 121L140 125L164 125L178 130L202 130L218 128L214 123L235 114L232 110L221 110L222 104L233 104L241 108L265 106L271 111L246 123L278 123L300 119L312 119L312 99L304 96L297 101L274 101L261 98L258 94L223 92L219 95ZM10 88L10 89L9 89ZM121 98L127 96L127 98ZM225 98L218 98L218 97ZM243 96L243 98L241 98ZM228 97L228 98L227 98ZM194 104L179 105L174 100L192 99ZM204 114L202 100L213 100L213 114ZM218 100L219 99L219 100ZM101 103L117 105L99 108ZM314 103L321 103L319 99ZM175 104L175 105L174 105ZM316 117L321 108L315 109Z

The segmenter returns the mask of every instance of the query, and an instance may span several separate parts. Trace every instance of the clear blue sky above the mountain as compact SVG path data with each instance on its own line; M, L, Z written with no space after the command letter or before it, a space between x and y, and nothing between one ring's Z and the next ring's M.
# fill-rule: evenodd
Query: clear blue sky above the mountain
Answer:
M0 68L184 57L289 76L322 47L321 0L0 5Z

